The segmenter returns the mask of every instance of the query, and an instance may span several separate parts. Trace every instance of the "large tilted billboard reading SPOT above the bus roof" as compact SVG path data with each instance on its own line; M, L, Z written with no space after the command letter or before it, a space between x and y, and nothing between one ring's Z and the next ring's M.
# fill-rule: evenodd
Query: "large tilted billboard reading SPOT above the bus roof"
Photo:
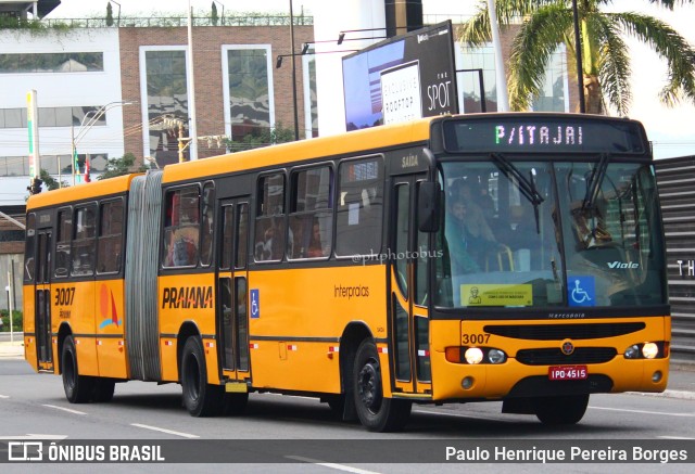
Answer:
M343 57L345 128L458 113L451 21Z

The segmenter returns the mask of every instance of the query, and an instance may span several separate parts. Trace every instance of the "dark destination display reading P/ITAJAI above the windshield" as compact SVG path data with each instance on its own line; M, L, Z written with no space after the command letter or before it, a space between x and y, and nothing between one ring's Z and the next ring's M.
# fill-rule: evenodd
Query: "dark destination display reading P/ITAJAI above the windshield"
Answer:
M448 152L643 154L646 137L636 121L595 119L576 115L491 116L454 118L444 123Z

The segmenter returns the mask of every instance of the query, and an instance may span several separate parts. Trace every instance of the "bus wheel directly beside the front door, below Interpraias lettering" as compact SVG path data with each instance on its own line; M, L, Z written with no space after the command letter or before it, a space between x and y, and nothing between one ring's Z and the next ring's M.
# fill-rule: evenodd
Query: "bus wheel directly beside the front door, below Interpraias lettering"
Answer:
M412 403L383 397L379 355L369 340L357 349L353 375L357 417L367 430L391 432L407 423Z

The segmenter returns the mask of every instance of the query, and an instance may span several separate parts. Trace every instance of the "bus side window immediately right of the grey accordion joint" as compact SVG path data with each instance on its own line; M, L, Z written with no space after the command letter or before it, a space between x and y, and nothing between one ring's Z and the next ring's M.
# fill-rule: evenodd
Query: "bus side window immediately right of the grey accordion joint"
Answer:
M198 262L200 191L190 185L166 193L164 267L192 267Z

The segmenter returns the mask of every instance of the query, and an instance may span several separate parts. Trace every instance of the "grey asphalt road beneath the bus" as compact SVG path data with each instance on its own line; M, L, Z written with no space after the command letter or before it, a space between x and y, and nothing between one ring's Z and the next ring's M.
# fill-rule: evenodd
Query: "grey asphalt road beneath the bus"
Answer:
M252 394L245 413L214 419L191 418L181 407L178 385L128 382L116 386L109 403L71 405L65 400L60 376L36 374L23 360L0 360L0 450L10 439L42 438L56 443L110 440L164 444L169 460L177 454L190 464L99 464L100 472L210 472L230 469L208 464L223 459L237 472L605 472L608 465L593 463L466 464L445 459L445 449L526 449L553 451L579 446L587 450L622 449L688 450L688 464L670 464L669 472L690 472L695 461L695 397L635 394L595 395L582 422L574 426L548 427L534 417L502 414L500 402L417 406L403 433L376 434L358 424L337 420L327 405L316 399ZM175 440L174 445L167 443ZM525 445L526 444L526 445ZM529 444L531 444L529 446ZM626 445L626 446L627 446ZM627 448L626 448L627 449ZM632 449L632 448L630 448ZM472 451L471 451L472 452ZM569 452L569 451L568 451ZM218 458L220 457L220 458ZM441 461L439 458L441 457ZM0 452L0 462L4 454ZM438 464L432 464L432 460ZM407 463L394 461L407 460ZM426 464L420 463L427 461ZM475 459L472 460L476 461ZM440 463L441 462L441 463ZM268 464L273 463L273 464ZM40 467L43 467L41 471ZM71 473L94 471L96 464L46 464L28 466L46 472L63 467ZM664 465L611 463L610 472L640 472ZM5 469L8 467L8 469ZM27 464L3 464L3 472L27 472Z

